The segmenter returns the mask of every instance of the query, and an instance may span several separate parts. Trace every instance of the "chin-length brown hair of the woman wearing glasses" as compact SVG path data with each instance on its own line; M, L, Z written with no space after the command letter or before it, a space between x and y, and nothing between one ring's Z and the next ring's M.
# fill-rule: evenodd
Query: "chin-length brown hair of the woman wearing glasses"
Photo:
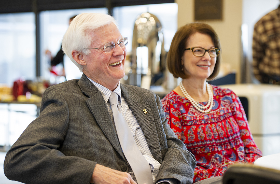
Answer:
M212 38L215 47L221 49L218 35L210 25L194 22L180 27L172 39L170 50L167 54L167 68L175 78L181 77L184 79L189 77L185 74L185 71L182 70L184 66L181 64L181 60L185 52L188 38L196 32L209 35ZM219 73L219 68L220 55L217 57L213 73L207 78L207 80L214 79Z

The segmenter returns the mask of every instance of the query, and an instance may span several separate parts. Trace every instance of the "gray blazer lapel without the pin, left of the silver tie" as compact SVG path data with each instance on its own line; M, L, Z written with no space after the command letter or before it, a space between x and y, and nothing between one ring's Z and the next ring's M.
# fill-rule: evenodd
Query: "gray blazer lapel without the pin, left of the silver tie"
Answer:
M122 148L120 147L120 143L118 141L113 123L110 119L109 112L101 92L95 87L94 84L92 84L90 80L88 80L85 74L82 75L78 85L80 86L82 92L89 97L86 100L86 103L97 124L108 138L111 145L125 160L122 153Z

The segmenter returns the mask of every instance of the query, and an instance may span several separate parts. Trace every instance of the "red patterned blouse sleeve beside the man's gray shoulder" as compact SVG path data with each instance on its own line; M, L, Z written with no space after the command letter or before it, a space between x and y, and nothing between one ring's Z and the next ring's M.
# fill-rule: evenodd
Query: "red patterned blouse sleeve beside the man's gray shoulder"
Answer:
M172 100L173 101L173 100ZM181 126L181 111L179 109L179 105L176 102L172 102L168 99L162 100L163 110L165 113L165 117L168 120L168 124L176 134L178 139L182 139L183 136L183 129Z

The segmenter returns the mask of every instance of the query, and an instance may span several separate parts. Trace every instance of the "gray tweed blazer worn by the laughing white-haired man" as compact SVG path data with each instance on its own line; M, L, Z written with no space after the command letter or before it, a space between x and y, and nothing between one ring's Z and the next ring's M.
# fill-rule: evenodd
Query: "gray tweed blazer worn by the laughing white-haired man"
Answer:
M131 85L121 90L161 164L156 181L192 183L195 158L167 124L159 97ZM105 101L83 74L45 90L40 115L8 151L4 173L23 183L88 184L96 163L119 171L128 166Z

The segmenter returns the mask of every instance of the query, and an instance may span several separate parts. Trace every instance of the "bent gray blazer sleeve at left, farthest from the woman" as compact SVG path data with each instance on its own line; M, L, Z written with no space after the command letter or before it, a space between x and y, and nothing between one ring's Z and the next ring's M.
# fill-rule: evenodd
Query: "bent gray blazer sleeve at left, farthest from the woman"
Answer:
M43 94L40 115L6 154L4 173L23 183L90 183L96 162L59 151L67 135L69 108L59 92Z

